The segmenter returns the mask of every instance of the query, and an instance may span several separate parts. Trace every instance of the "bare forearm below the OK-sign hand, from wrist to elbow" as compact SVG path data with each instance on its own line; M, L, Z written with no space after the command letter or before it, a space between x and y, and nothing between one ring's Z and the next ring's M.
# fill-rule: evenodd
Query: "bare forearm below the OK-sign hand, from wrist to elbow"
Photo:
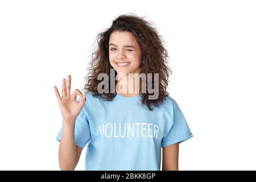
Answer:
M77 165L75 121L63 121L62 135L59 146L59 165L61 170L74 170Z

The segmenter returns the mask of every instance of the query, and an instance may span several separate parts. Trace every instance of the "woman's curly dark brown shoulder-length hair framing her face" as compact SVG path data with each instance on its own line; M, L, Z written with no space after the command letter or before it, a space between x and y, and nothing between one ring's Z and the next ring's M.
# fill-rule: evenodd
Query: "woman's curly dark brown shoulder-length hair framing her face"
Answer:
M160 106L163 104L163 100L168 96L166 91L168 86L168 77L171 75L171 68L168 68L168 52L163 46L163 40L158 35L158 31L151 26L150 22L139 17L135 14L124 14L118 16L113 20L112 26L105 29L104 32L100 32L97 35L98 47L92 54L92 60L88 67L88 74L85 76L85 86L83 92L92 92L94 97L100 96L100 98L106 101L112 101L116 96L115 93L99 93L97 86L101 80L97 80L100 73L106 73L110 77L110 65L109 61L109 38L114 31L128 31L131 32L139 46L141 46L141 73L152 73L152 82L154 82L154 73L159 74L159 96L156 100L148 99L150 93L139 93L142 97L142 104L147 105L148 109L152 111L152 105ZM115 75L117 72L115 71ZM109 79L110 84L110 79ZM117 84L117 81L115 81ZM110 91L110 87L109 87Z

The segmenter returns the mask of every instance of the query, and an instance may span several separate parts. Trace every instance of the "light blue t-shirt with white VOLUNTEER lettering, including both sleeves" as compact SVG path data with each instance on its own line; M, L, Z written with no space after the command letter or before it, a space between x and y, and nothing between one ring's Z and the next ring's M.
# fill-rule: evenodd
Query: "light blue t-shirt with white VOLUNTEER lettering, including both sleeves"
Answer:
M183 113L169 96L150 111L141 96L117 94L105 101L88 92L75 123L76 145L84 148L88 143L85 170L160 170L161 147L192 137Z

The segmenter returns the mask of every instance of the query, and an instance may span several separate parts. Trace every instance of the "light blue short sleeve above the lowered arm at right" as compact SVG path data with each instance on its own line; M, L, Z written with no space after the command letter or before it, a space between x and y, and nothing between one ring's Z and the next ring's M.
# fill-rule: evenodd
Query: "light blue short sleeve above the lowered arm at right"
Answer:
M175 101L173 113L173 118L171 118L173 123L168 135L162 139L162 147L170 146L174 143L181 143L193 137L193 134L188 127L188 123Z

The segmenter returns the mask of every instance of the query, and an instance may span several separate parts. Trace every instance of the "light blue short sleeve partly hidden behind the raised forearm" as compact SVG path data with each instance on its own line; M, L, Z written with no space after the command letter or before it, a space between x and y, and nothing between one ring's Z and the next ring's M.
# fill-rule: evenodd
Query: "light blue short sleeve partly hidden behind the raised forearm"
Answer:
M77 101L80 101L79 98ZM90 140L90 128L89 122L84 112L84 107L81 109L79 115L77 115L75 122L75 144L81 148L84 148ZM56 137L56 140L61 140L62 129L60 129L59 134Z

